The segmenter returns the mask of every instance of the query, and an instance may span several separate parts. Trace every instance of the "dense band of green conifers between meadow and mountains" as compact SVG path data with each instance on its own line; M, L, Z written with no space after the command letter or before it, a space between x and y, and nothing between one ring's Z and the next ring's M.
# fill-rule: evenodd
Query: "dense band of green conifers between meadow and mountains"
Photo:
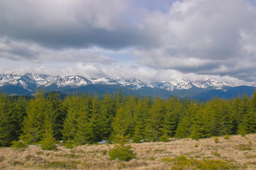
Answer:
M163 100L137 96L58 94L38 91L31 99L0 94L0 146L21 140L28 145L44 141L93 144L112 142L166 142L170 137L198 140L256 132L256 91L225 100L197 103L188 98Z

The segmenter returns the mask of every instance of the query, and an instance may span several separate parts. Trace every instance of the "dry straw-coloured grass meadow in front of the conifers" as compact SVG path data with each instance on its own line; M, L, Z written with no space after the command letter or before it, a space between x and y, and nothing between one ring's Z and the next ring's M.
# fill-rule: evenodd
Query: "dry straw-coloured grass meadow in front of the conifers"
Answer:
M108 159L108 151L114 145L84 145L73 149L58 146L56 151L43 151L41 147L0 148L0 169L178 169L177 162L171 160L180 155L193 161L221 160L233 168L256 169L256 135L218 138L218 143L212 137L132 144L137 159L130 162Z

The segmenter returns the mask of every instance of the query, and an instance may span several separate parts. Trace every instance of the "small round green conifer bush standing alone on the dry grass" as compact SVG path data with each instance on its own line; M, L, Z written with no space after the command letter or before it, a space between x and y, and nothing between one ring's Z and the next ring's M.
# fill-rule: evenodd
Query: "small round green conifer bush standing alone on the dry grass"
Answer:
M136 159L136 155L137 154L134 153L131 145L124 144L115 145L109 152L110 160L119 159L120 161L127 162L131 159Z

